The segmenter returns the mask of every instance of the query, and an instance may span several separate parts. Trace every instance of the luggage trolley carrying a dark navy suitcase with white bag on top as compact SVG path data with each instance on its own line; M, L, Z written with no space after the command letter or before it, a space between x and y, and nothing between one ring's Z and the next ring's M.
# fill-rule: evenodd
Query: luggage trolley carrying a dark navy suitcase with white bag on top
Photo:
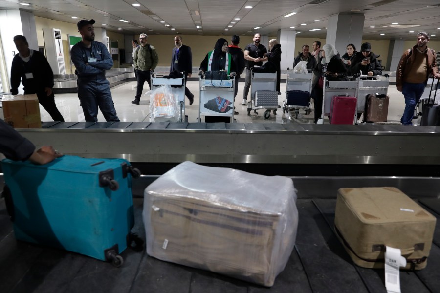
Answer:
M313 73L294 73L293 71L289 71L287 73L287 85L286 85L286 101L284 101L283 105L283 113L288 112L289 110L295 110L295 118L298 118L299 110L305 109L306 115L310 114L311 110L310 106L310 95L311 95L311 87L312 87L312 79ZM298 97L289 98L289 91L298 91L298 92L290 92L295 95L298 94ZM302 91L303 93L299 92ZM308 98L303 94L308 93ZM303 96L301 96L303 95ZM293 99L293 103L289 100Z

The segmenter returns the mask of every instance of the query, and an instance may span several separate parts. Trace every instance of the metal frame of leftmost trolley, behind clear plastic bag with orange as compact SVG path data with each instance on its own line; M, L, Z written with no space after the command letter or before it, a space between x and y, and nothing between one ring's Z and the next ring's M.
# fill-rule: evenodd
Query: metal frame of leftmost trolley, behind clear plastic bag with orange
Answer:
M188 121L185 115L185 72L182 72L182 78L162 78L168 73L151 72L151 90L155 90L164 85L176 85L179 87L171 87L173 94L176 96L177 105L179 105L179 122Z

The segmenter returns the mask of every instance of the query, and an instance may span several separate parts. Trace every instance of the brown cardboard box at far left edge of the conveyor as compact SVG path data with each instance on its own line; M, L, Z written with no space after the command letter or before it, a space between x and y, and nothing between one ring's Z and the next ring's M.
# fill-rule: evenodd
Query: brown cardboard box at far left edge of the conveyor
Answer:
M4 121L14 128L41 128L37 95L5 95L2 100Z

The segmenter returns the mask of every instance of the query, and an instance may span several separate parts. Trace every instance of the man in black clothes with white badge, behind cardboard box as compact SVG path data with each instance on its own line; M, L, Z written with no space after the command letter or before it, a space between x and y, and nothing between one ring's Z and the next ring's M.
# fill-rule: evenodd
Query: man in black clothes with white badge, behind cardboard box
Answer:
M14 43L19 51L12 60L11 92L18 94L20 80L25 95L37 94L38 102L52 117L53 121L64 121L55 105L55 95L52 92L53 72L42 53L29 49L26 37L17 35Z

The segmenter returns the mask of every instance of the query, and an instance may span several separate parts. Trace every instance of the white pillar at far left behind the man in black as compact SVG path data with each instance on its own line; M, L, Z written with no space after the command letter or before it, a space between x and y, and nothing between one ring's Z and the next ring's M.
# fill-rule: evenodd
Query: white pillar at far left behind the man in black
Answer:
M18 54L14 44L14 36L25 36L29 48L38 51L34 15L25 10L0 10L0 35L5 61L3 65L6 67L0 68L0 71L7 72L7 81L2 80L1 84L2 90L7 92L10 90L12 59L14 59L15 54ZM23 93L22 86L19 87L19 93Z

